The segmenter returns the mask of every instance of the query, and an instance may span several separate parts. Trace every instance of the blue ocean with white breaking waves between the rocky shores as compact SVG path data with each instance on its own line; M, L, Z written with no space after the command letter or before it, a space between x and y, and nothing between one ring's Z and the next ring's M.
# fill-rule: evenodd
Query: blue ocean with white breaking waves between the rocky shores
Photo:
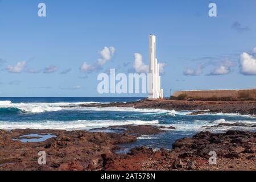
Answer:
M214 133L227 130L255 131L255 127L206 127L220 123L256 124L256 117L240 114L199 114L192 111L163 109L134 109L121 107L79 107L80 104L131 102L143 98L0 98L0 129L61 129L89 130L114 125L156 125L174 126L166 133L142 136L137 142L123 144L123 148L147 146L152 148L172 148L176 139L191 137L199 131Z

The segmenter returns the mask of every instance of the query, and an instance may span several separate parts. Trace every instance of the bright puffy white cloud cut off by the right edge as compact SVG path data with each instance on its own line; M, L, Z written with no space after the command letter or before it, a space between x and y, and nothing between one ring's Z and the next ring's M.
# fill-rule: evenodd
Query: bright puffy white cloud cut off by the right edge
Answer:
M240 56L240 72L243 75L256 75L256 59L246 52Z

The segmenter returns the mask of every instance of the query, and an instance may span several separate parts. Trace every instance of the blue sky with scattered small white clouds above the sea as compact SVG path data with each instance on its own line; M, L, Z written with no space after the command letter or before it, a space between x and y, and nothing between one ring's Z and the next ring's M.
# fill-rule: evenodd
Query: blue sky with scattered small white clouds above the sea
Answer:
M38 16L40 2L46 17ZM217 17L208 15L210 2ZM97 75L135 72L134 53L148 64L148 34L156 35L156 57L165 64L164 96L170 89L255 88L255 17L252 0L2 0L0 97L146 96L100 95ZM104 64L96 69L98 59Z

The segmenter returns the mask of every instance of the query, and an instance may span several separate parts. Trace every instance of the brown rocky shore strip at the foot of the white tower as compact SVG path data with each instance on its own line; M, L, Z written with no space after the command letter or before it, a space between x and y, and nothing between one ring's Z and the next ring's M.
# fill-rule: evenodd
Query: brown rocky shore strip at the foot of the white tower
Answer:
M109 104L83 104L81 107L134 107L138 109L199 110L192 114L239 113L256 115L256 101L141 100Z

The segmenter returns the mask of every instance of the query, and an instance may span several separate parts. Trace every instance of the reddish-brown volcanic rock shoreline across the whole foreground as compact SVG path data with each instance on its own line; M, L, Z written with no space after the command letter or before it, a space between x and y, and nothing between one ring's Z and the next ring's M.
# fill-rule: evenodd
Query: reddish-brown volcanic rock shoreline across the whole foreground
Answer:
M0 170L255 170L256 133L227 131L201 132L176 140L172 150L135 147L117 154L118 144L131 143L141 135L165 132L147 125L112 126L98 130L0 130ZM171 128L175 130L175 128ZM23 143L28 134L55 136L42 142ZM20 138L21 137L21 138ZM35 137L35 139L38 137ZM38 152L46 152L46 165L38 164ZM217 164L209 164L209 152Z

